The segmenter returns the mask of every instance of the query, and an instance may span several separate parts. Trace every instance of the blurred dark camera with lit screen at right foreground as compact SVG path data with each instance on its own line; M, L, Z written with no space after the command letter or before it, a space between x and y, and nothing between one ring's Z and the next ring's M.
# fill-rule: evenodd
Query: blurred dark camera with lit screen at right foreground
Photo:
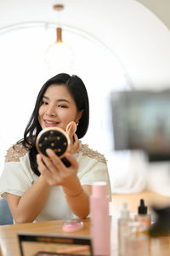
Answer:
M170 160L170 91L111 93L115 150L141 149L150 161Z

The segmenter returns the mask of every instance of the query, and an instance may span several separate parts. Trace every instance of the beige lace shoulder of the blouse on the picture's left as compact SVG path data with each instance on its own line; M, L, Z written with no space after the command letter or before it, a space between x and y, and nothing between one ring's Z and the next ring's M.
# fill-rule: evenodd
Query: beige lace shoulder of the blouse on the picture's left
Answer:
M24 156L28 152L21 143L15 144L11 148L8 149L7 154L5 156L6 162L20 162L20 157Z

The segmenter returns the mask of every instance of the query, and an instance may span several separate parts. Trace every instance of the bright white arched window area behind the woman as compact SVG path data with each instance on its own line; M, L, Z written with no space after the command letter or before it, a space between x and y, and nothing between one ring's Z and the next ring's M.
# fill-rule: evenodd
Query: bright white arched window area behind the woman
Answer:
M0 171L5 151L23 136L37 92L55 74L48 72L43 63L43 52L49 42L53 42L55 27L54 23L29 22L0 30L3 88L0 108L5 109L0 136ZM82 143L105 153L112 148L109 94L111 90L130 90L128 75L111 49L90 34L63 26L63 37L73 46L77 58L74 67L64 72L76 73L82 78L91 104L89 131ZM105 137L105 147L99 143L101 134Z

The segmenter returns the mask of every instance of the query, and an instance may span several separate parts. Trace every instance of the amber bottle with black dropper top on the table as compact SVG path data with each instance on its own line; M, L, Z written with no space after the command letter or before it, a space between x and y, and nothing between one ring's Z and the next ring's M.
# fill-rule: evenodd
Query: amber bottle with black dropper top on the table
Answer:
M147 208L144 205L144 199L140 199L140 205L138 207L138 214L134 217L136 221L142 222L146 230L150 229L151 219L150 214L147 213Z

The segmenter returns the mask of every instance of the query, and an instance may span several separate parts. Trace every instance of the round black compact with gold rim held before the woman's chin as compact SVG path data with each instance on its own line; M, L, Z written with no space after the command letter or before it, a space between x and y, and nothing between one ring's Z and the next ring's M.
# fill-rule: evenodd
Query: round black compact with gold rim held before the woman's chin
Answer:
M59 127L48 127L43 129L37 136L37 151L43 156L48 157L47 148L54 150L65 166L71 166L71 163L65 159L64 155L70 147L70 138L66 132Z

